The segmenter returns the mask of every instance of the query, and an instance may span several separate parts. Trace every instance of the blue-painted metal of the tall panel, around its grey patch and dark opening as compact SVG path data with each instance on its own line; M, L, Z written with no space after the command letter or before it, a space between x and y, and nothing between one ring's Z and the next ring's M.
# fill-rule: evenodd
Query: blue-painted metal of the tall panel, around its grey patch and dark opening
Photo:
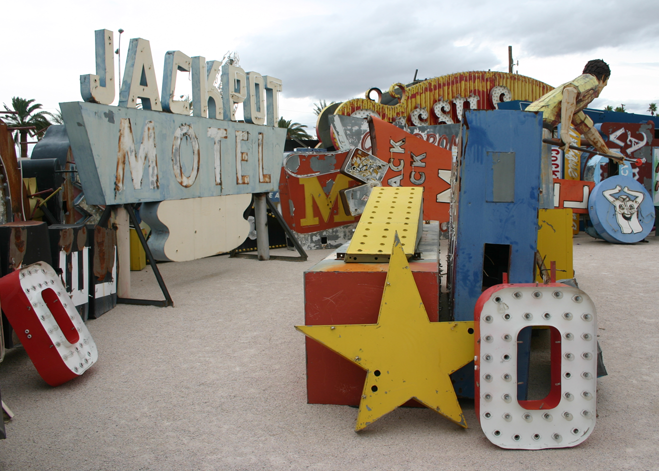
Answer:
M483 291L485 244L510 245L511 283L533 282L537 247L542 115L467 111L462 131L457 212L452 221L451 298L455 320L473 320ZM514 201L487 202L491 153L515 154Z

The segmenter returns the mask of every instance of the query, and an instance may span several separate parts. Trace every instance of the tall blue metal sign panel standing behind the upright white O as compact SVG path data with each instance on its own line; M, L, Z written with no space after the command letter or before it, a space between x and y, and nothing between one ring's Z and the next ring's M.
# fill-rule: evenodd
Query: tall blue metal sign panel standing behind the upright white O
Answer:
M474 319L481 293L503 282L532 283L537 249L542 114L465 112L454 164L449 228L449 299L453 318ZM520 333L518 398L525 399L530 330ZM473 363L451 376L474 395Z

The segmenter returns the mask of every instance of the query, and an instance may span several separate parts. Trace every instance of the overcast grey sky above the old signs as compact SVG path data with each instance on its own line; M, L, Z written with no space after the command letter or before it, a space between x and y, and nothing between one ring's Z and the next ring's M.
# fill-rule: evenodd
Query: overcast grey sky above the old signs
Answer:
M282 79L280 114L310 128L313 103L408 83L416 69L419 78L507 71L509 45L520 74L553 86L589 59L607 61L612 76L594 108L646 114L659 103L659 2L32 0L4 5L3 17L0 103L34 98L48 111L81 100L79 76L95 73L103 28L115 47L125 30L122 61L130 38L151 42L159 89L167 51L207 60L235 51L246 71ZM189 93L178 82L177 94Z

